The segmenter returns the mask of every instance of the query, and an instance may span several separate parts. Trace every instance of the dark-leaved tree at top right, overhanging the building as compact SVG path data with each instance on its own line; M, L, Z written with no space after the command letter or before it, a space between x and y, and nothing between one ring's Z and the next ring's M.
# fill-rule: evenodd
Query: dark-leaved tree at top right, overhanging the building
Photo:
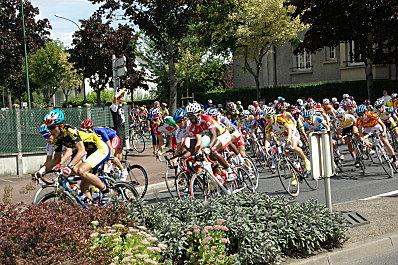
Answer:
M396 32L398 2L290 0L290 3L297 7L293 17L300 17L301 21L311 25L296 52L316 52L325 46L353 41L355 61L365 63L368 97L374 99L373 65L382 61L385 45L394 44L389 40L391 33Z

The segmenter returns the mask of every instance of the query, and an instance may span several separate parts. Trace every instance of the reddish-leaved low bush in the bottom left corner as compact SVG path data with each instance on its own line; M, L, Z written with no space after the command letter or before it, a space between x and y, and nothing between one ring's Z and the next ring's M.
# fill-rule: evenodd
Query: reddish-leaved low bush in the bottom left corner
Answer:
M66 204L0 205L0 264L105 264L90 251L92 220L134 225L124 207L81 209Z

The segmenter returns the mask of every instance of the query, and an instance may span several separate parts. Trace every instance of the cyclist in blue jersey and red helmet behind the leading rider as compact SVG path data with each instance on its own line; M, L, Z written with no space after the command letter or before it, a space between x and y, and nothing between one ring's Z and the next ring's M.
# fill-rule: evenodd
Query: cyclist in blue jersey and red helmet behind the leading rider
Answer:
M87 129L89 131L93 131L99 136L101 136L102 141L104 141L111 152L111 162L115 164L117 168L120 169L121 179L126 180L128 176L128 171L125 169L120 163L119 158L115 157L116 150L121 149L120 138L117 135L117 132L111 128L106 127L94 127L94 122L91 119L85 119L81 122L80 127L82 129Z

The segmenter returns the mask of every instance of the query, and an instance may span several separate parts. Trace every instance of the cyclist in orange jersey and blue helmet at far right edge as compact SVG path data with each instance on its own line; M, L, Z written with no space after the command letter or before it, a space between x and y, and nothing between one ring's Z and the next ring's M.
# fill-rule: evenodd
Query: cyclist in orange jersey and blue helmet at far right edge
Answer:
M356 108L356 113L358 114L357 126L359 130L359 135L362 137L363 135L366 135L368 133L378 132L380 140L383 142L384 148L386 149L388 155L390 155L393 163L397 164L395 151L386 137L387 128L384 125L383 121L380 119L379 115L374 112L368 111L365 105L359 105Z

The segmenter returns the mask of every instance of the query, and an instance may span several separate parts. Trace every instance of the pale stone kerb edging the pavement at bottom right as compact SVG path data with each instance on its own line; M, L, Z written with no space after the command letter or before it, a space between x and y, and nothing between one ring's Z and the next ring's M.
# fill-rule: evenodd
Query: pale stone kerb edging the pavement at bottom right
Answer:
M398 250L398 232L384 235L374 240L353 244L348 248L320 254L301 261L290 261L286 265L338 265L349 264L366 257L374 257L389 251Z

